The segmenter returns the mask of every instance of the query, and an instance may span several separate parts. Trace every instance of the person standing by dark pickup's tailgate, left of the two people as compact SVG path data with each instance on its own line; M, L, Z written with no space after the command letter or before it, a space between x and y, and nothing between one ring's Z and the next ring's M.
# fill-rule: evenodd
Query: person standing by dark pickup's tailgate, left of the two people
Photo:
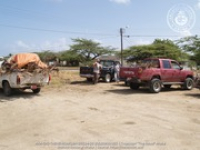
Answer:
M93 83L94 84L98 83L100 69L101 69L100 60L97 58L95 59L95 62L93 63L93 74L94 74Z

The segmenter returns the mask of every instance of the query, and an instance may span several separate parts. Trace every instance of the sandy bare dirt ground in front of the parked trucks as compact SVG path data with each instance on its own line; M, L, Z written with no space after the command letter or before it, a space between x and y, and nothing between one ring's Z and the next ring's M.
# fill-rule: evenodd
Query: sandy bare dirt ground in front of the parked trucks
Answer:
M199 150L200 91L159 94L123 83L70 81L6 98L0 150Z

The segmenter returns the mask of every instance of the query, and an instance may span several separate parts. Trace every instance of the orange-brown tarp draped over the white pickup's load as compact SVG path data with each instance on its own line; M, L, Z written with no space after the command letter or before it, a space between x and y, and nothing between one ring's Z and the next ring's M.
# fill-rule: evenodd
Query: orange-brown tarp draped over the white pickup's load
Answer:
M37 65L37 67L41 69L48 68L48 66L40 60L39 56L34 53L20 53L13 55L9 58L8 63L11 64L12 69L21 69L30 64Z

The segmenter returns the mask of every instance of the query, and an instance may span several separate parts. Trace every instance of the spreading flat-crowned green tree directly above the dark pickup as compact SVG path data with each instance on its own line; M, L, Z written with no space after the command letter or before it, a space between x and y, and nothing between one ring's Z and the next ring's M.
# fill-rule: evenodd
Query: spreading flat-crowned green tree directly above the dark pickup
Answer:
M114 50L110 47L103 47L98 42L94 42L92 40L87 39L72 39L74 42L73 45L70 46L71 52L75 52L77 55L79 55L79 58L81 58L81 61L91 61L95 58L110 54Z

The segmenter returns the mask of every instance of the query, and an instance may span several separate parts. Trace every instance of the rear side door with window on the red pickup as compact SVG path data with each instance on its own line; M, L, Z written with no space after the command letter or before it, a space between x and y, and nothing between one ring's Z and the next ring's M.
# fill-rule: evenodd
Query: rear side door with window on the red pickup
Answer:
M164 82L170 82L173 74L171 63L169 60L162 60L161 62L162 62L162 69L161 69L162 80Z

